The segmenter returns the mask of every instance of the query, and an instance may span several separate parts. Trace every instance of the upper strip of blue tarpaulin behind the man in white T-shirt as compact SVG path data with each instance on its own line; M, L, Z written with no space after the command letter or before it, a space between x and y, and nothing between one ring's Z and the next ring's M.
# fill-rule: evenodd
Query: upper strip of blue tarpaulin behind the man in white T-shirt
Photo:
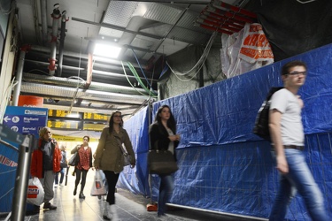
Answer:
M308 65L304 99L305 133L325 133L332 128L331 45L291 57L273 65L223 80L205 88L156 103L171 107L181 133L179 148L259 141L252 132L257 111L269 88L282 86L282 65L300 59Z

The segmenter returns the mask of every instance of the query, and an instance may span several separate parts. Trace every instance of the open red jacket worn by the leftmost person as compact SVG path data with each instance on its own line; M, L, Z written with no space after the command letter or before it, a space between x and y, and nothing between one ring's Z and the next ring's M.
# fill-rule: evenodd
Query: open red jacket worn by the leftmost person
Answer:
M42 168L42 139L39 139L38 149L35 149L31 157L30 173L32 177L43 178ZM60 161L62 159L61 150L58 148L58 143L51 140L51 147L54 148L53 153L53 171L61 170Z

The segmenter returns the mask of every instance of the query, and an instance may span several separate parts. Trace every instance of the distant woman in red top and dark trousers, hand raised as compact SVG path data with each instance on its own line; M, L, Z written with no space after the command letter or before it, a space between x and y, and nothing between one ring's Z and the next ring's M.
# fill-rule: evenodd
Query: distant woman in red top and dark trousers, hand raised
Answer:
M83 194L85 183L87 181L87 174L90 168L92 168L92 150L89 147L89 136L83 137L83 143L81 145L77 145L74 149L72 149L71 154L74 154L78 151L79 162L74 168L74 173L76 174L75 179L75 187L73 189L73 195L77 193L77 186L81 181L81 190L79 194L80 199L85 199L85 195ZM92 168L92 170L94 170Z

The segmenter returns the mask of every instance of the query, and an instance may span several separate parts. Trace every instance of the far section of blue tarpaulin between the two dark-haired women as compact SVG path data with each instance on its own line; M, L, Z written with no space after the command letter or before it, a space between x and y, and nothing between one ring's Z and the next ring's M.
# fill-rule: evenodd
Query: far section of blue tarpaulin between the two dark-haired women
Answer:
M125 166L120 173L118 187L126 188L134 194L150 197L149 171L147 152L149 151L149 109L140 110L126 121L124 128L129 134L136 157L136 166L131 169Z

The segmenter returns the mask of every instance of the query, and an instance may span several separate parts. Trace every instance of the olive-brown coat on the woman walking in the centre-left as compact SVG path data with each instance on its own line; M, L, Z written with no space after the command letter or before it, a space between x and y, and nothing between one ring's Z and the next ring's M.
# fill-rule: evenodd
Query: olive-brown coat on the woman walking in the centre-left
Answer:
M116 140L118 138L120 138L120 141L124 143L128 154L131 156L131 164L135 165L135 153L127 131L120 128L120 133L112 131L110 134L109 127L105 127L100 135L96 150L94 162L95 167L99 167L99 169L103 171L114 171L117 173L123 170L124 156L122 155L120 144Z

